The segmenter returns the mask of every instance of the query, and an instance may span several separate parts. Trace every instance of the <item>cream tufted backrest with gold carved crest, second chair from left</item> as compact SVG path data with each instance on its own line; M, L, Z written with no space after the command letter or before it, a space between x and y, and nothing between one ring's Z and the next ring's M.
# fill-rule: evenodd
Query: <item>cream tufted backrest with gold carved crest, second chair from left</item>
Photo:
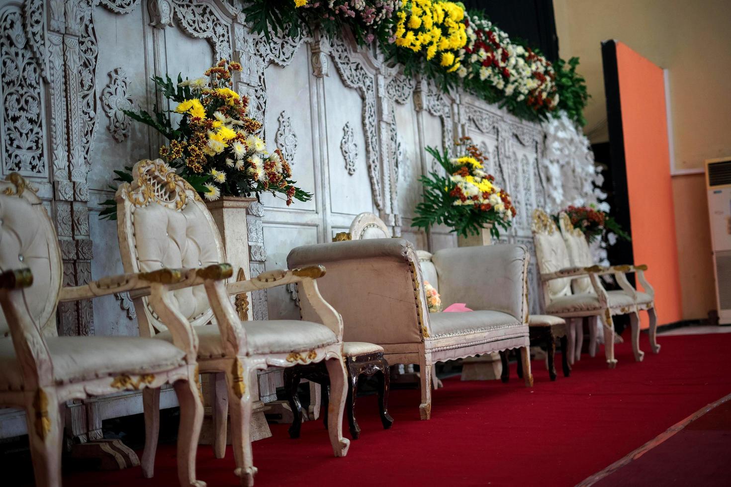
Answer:
M162 267L194 268L225 262L216 223L198 193L161 159L137 162L132 184L116 194L117 234L124 272ZM213 310L202 285L173 292L178 309L193 325L211 321ZM145 318L166 329L143 298Z

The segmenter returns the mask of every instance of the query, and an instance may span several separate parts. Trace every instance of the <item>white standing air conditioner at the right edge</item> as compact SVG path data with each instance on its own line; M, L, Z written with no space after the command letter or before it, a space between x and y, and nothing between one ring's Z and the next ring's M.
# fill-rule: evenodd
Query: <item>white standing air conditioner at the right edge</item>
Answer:
M731 324L731 157L705 161L719 325Z

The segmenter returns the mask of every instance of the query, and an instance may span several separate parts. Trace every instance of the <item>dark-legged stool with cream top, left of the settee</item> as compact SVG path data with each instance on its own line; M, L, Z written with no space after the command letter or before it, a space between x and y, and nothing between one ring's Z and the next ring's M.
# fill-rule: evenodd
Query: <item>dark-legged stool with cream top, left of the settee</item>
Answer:
M360 426L355 421L355 397L358 391L358 377L361 374L368 376L376 375L379 380L378 407L381 414L381 423L384 429L389 429L393 424L393 418L388 414L388 388L390 387L390 373L388 362L383 358L383 348L379 345L366 342L344 342L343 359L345 368L348 371L348 397L346 410L350 434L353 440L360 436ZM330 396L330 377L327 375L325 364L308 364L287 367L284 369L284 389L287 391L287 400L292 407L294 420L289 426L289 437L300 437L300 426L302 425L302 404L298 396L300 379L307 379L317 383L322 388L322 407L324 414L322 421L327 429L327 403Z

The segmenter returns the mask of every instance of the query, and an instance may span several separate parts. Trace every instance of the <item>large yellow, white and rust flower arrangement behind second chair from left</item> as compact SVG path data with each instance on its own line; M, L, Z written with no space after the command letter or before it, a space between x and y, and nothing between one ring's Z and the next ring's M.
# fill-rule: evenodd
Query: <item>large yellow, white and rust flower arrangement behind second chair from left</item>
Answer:
M231 77L241 65L225 59L212 66L204 77L182 79L154 77L156 88L175 104L174 110L154 115L125 110L126 115L159 131L168 143L159 148L164 158L183 179L209 202L221 196L281 195L287 205L294 199L306 202L307 193L295 186L292 169L281 150L268 152L257 133L262 123L247 116L249 98L233 91ZM180 115L173 126L173 113ZM132 182L132 168L115 171L117 181ZM116 189L116 188L113 188ZM102 202L100 218L116 218L113 199Z

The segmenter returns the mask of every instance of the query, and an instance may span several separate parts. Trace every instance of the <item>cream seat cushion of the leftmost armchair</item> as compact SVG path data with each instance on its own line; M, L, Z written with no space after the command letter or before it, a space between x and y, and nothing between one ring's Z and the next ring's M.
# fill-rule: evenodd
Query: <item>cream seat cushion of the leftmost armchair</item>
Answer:
M172 343L142 337L46 337L57 384L109 375L154 374L184 365ZM23 375L12 340L0 340L0 390L20 390Z

